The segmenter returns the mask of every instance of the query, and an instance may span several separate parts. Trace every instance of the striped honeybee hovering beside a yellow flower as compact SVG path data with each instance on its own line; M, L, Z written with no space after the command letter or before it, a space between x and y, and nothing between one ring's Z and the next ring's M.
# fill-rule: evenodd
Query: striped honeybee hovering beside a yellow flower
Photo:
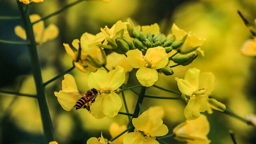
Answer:
M92 103L95 102L95 98L98 96L98 92L100 93L99 90L92 88L91 90L88 90L86 93L84 93L83 97L80 98L76 102L76 105L74 106L76 108L76 110L78 110L80 108L86 108L88 110L88 112L89 111L91 112L90 106Z

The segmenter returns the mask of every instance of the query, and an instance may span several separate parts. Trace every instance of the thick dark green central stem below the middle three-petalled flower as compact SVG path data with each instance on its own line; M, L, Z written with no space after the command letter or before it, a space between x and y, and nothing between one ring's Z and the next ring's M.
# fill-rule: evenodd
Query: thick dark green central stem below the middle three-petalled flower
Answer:
M145 87L145 86L142 86L142 87L141 87L141 90L140 90L140 94L138 95L137 104L136 104L136 106L135 106L135 109L134 109L132 118L138 118L139 112L140 112L140 106L139 106L139 104L142 104L142 101L143 101L144 96L145 96L145 92L146 92L146 87ZM129 132L132 132L132 131L134 130L134 126L131 125L131 127L132 127L132 129L131 129Z

